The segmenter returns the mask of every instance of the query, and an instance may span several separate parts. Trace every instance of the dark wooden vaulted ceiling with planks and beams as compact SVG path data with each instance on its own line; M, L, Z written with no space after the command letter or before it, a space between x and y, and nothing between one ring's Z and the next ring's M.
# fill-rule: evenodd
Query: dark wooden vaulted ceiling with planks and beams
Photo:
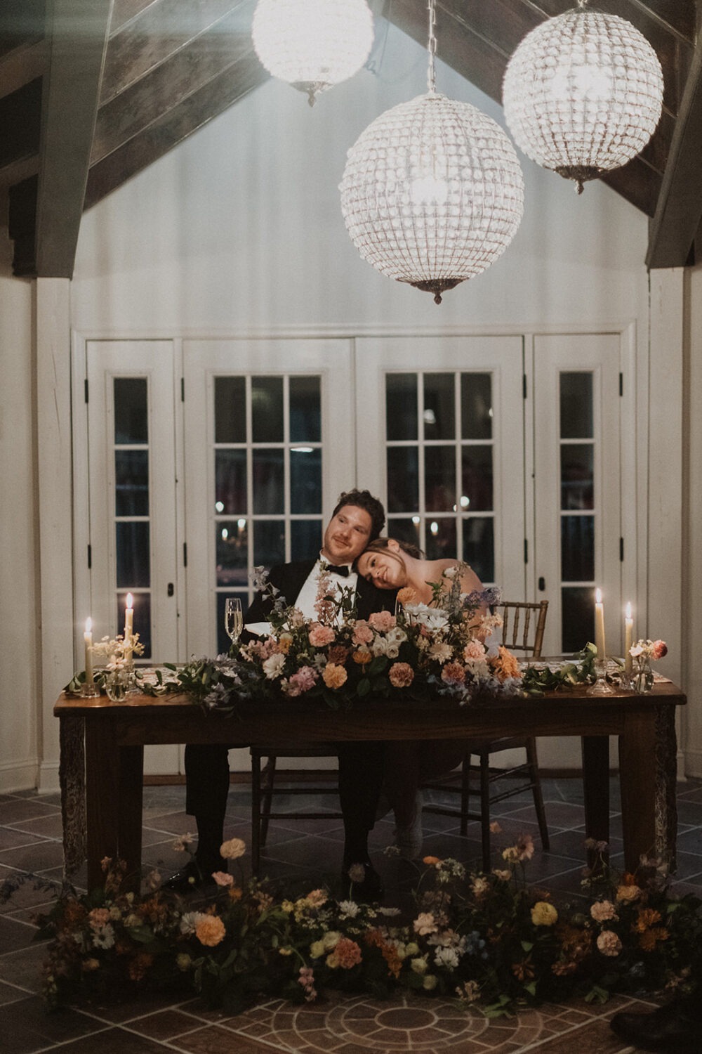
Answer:
M509 56L575 0L437 0L438 55L501 102ZM71 277L82 212L267 79L256 0L3 0L0 222L14 273ZM702 255L702 59L697 0L593 0L655 47L663 115L643 153L605 181L647 215L648 267ZM699 4L702 7L702 3ZM372 0L426 41L426 0ZM554 179L557 179L554 175Z

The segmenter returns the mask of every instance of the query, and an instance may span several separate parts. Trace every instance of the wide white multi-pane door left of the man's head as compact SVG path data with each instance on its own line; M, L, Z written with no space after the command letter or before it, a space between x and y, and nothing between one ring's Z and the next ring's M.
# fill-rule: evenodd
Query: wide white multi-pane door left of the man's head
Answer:
M354 486L350 341L186 340L187 652L228 646L255 566L316 558Z

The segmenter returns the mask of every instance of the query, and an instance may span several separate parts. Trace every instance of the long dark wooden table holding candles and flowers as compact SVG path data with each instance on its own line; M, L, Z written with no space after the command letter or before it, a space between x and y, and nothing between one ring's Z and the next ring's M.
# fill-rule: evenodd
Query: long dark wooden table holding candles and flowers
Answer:
M657 684L649 695L587 695L584 685L542 697L485 698L459 705L363 699L349 708L300 699L241 702L235 713L205 713L185 695L83 699L62 694L60 781L65 872L87 858L88 889L104 881L106 857L125 861L139 887L143 750L155 743L266 742L275 734L296 742L477 739L499 736L577 736L582 741L585 837L609 840L609 737L619 740L619 780L628 871L657 854L675 870L676 707L680 688ZM334 753L332 748L329 753ZM583 851L584 852L584 851Z

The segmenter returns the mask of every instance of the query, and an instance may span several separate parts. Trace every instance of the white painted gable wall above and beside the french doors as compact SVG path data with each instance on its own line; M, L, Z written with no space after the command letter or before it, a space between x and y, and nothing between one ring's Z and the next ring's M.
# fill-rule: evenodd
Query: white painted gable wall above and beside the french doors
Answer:
M525 158L525 216L513 245L485 274L447 293L441 307L361 260L339 204L345 152L383 110L423 94L425 73L423 48L390 28L379 75L363 71L323 95L314 110L304 96L270 81L86 213L69 291L61 284L44 284L37 311L26 282L0 278L0 308L6 308L0 311L3 359L11 348L22 350L21 363L12 364L9 372L4 369L9 379L0 389L1 424L6 428L9 423L13 435L22 436L23 448L18 455L17 444L11 449L0 432L0 485L3 495L11 492L16 499L12 508L3 501L0 513L3 545L9 538L12 557L3 559L0 572L0 624L14 622L9 635L0 636L3 671L12 671L11 679L5 674L0 681L0 773L14 772L15 786L33 785L38 759L42 785L55 779L58 753L49 697L69 676L73 657L65 653L65 642L77 632L71 600L62 592L72 560L69 534L44 525L43 509L51 504L42 501L41 535L35 519L39 484L48 503L61 501L69 486L68 327L85 335L179 336L320 329L621 331L634 324L637 401L644 423L649 375L665 378L670 363L680 368L677 300L667 305L667 315L658 311L649 356L646 218L600 183L588 184L578 197L570 183ZM502 121L498 105L442 63L438 87ZM667 327L671 316L674 325ZM33 320L42 375L38 402L32 390ZM702 378L700 384L702 390ZM655 518L649 520L647 488L659 483L669 492L675 487L670 475L680 486L678 437L666 430L667 415L680 415L680 397L673 376L665 412L656 415L656 432L644 428L637 436L637 512L640 542L646 543L639 546L637 569L642 592L651 535L657 553L679 546L675 514L663 531ZM33 475L31 421L37 406L41 445L38 474ZM648 475L650 450L661 476L655 481ZM66 493L66 516L69 509ZM18 521L21 533L16 532ZM37 524L34 533L26 529L31 523ZM21 578L29 585L26 596L34 597L40 545L41 607L38 599L22 601L15 619L17 604L6 586ZM662 577L661 567L658 580ZM680 621L680 583L667 588L665 614L674 609ZM651 606L658 596L651 590ZM36 636L40 610L54 612L54 618L44 627L45 662L37 675L32 648L24 645ZM664 636L656 612L648 613L651 631ZM695 735L702 744L702 727ZM542 752L544 764L578 761L577 749L561 750L556 743Z

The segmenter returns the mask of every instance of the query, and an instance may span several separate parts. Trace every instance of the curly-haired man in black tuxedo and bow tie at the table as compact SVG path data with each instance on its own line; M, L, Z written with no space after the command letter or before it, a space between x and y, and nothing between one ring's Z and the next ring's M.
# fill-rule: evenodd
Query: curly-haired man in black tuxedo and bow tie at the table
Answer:
M314 619L317 582L320 570L328 568L339 588L356 590L359 619L374 611L395 607L395 592L376 589L352 571L352 564L368 542L378 538L385 524L383 506L367 490L341 494L326 529L317 560L280 564L270 569L268 582L276 586L287 604L298 607L305 619ZM267 621L273 600L258 593L244 616L244 624ZM185 747L185 812L194 815L198 827L195 860L177 872L165 889L179 893L197 887L213 872L226 871L220 856L223 841L226 797L229 789L228 747L220 744L193 743ZM383 777L384 743L338 743L339 801L344 821L342 879L348 882L348 868L362 864L365 897L380 897L380 876L368 857L368 832L376 819L376 808Z

